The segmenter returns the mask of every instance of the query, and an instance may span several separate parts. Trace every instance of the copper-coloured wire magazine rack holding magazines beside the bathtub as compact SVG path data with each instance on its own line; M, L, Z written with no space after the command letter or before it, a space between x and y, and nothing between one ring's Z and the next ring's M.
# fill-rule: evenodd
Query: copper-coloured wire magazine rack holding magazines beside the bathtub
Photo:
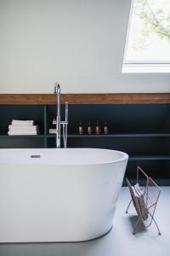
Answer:
M144 186L139 185L139 177L143 177L145 183ZM145 174L145 172L139 166L137 167L136 184L132 186L127 177L126 182L132 197L131 201L127 206L126 213L128 212L128 208L133 202L133 206L135 207L136 212L138 213L139 216L133 228L133 235L136 232L136 228L139 222L142 221L145 228L148 228L150 224L154 222L158 230L158 235L161 236L161 231L158 227L158 224L156 223L156 219L154 218L156 205L161 193L161 189L151 179L151 177Z

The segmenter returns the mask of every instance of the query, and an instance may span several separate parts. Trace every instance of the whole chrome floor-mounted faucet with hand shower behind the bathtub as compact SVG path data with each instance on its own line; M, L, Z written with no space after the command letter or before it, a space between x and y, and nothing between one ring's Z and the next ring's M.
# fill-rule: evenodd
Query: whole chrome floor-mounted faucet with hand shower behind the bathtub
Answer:
M60 148L61 142L61 125L63 126L63 141L64 147L66 148L67 143L67 125L68 125L68 102L65 102L65 121L61 122L60 118L60 86L56 82L54 84L54 93L57 95L57 113L56 119L53 120L53 125L56 125L56 148Z

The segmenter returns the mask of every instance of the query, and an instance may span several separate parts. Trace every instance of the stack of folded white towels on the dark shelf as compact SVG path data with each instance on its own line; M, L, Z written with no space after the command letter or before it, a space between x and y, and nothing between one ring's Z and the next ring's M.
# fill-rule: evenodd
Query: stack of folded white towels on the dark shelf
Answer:
M12 120L8 135L37 135L37 125L33 120Z

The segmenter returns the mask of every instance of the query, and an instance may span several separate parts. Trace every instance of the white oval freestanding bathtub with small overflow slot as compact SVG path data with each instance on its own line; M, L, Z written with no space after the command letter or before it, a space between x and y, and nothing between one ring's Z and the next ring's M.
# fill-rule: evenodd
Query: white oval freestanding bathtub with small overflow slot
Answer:
M112 227L128 155L0 149L0 242L87 241Z

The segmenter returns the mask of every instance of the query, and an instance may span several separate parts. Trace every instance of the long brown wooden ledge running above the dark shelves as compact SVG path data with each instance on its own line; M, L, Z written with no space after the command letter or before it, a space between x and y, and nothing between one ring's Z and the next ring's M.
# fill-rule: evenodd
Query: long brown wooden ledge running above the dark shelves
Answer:
M62 94L61 103L65 102L69 104L170 103L170 93ZM49 105L55 103L54 94L0 94L0 104Z

